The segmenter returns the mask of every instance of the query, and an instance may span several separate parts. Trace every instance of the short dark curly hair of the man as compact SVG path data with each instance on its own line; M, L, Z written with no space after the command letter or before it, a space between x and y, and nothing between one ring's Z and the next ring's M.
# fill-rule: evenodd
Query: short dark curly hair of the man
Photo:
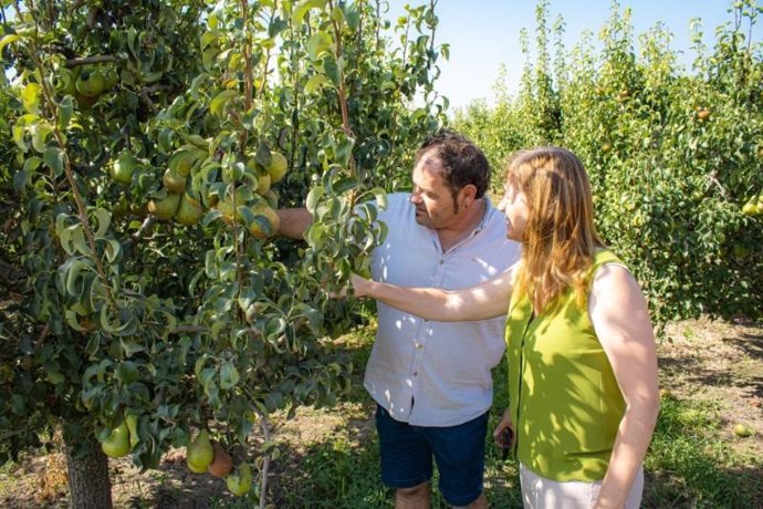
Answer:
M451 129L440 129L421 143L416 164L432 148L442 163L445 183L453 199L469 184L477 188L475 198L484 196L490 183L490 163L473 142Z

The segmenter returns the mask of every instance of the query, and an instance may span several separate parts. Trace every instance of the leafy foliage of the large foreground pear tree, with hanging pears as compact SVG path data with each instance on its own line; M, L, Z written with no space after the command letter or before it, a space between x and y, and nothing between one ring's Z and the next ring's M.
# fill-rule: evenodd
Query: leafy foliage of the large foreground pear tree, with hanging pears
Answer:
M49 426L76 449L130 414L150 468L194 428L233 447L273 411L346 394L330 337L358 319L326 290L367 268L376 206L446 105L432 6L394 27L380 7L17 9L0 39L0 261L20 274L0 281L0 460ZM306 246L270 238L275 201L313 210Z

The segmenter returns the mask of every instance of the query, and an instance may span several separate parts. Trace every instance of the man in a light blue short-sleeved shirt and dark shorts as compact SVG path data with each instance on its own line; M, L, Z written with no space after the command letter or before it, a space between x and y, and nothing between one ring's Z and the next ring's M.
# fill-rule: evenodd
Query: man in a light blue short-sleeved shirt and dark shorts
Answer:
M388 196L388 226L372 276L407 287L454 290L493 278L519 259L505 220L484 197L484 154L443 131L416 153L410 194ZM312 218L280 210L282 235L300 238ZM491 368L504 351L505 316L430 322L378 303L378 331L364 386L377 403L382 478L395 507L429 507L432 458L452 507L487 507L484 440L492 405Z

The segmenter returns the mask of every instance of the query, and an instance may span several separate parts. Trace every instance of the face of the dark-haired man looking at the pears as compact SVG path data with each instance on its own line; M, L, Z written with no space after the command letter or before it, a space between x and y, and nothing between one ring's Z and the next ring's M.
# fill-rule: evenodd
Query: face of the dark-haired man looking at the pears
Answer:
M442 177L442 162L435 148L426 152L414 168L410 202L416 206L416 221L428 228L448 227L457 216L453 196Z

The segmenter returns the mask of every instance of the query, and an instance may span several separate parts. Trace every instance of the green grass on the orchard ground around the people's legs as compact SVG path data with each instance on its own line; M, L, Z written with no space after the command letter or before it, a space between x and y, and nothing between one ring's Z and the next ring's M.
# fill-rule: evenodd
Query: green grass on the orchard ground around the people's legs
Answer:
M363 332L349 339L347 347L360 373L372 337ZM505 408L505 362L493 373L494 405L489 429L493 429ZM358 375L359 376L359 375ZM360 387L359 380L356 386ZM354 391L366 415L374 403ZM662 398L657 429L645 470L642 508L756 508L763 507L763 460L736 453L720 427L722 408L702 399ZM502 461L488 438L485 453L485 496L490 507L521 508L519 472L513 460ZM310 445L296 468L272 489L276 507L297 508L389 508L393 494L380 481L376 436L358 436L352 426L335 430L327 440ZM432 508L447 505L432 479Z

